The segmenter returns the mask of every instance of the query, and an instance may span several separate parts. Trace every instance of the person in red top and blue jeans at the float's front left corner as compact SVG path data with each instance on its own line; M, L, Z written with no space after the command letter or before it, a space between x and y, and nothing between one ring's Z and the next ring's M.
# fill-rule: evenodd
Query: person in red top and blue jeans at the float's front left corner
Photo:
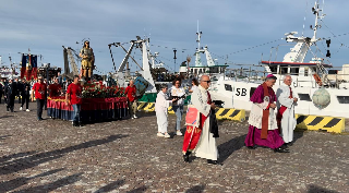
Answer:
M79 82L79 75L74 75L74 82L70 84L67 88L65 94L65 105L71 104L73 106L73 126L81 126L80 121L80 110L81 110L81 94L82 94L82 86Z

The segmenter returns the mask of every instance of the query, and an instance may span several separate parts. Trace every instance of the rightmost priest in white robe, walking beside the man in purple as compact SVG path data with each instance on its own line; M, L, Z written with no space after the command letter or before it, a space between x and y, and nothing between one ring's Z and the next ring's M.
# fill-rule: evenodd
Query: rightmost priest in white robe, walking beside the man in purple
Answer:
M294 106L298 98L291 88L292 79L290 75L284 77L284 83L276 92L277 96L277 122L280 134L286 144L293 141L293 130L296 129L297 121L294 117Z

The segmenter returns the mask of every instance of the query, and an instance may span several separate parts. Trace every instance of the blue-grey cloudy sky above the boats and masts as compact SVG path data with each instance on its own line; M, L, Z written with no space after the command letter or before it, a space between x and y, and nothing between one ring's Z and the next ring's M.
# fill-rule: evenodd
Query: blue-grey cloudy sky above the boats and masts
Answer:
M171 69L172 48L177 48L178 69L197 47L197 20L203 32L202 46L208 46L218 64L224 64L227 56L234 63L257 63L262 53L263 60L268 60L272 47L286 44L281 40L285 33L297 31L311 36L309 26L314 24L311 13L314 0L0 0L0 56L4 64L10 63L9 55L20 62L17 52L27 52L29 48L32 53L44 57L43 62L63 67L62 46L80 50L82 40L89 38L96 65L103 72L113 70L108 44L128 43L136 35L148 36L154 45L152 52L158 51L158 59ZM349 63L347 8L348 0L325 1L327 15L321 23L318 37L348 33L332 38L329 61L334 65ZM273 43L237 52L269 41ZM317 46L326 52L325 43ZM281 61L289 48L279 49L277 60ZM118 68L124 51L121 48L112 51ZM142 63L140 50L132 56Z

